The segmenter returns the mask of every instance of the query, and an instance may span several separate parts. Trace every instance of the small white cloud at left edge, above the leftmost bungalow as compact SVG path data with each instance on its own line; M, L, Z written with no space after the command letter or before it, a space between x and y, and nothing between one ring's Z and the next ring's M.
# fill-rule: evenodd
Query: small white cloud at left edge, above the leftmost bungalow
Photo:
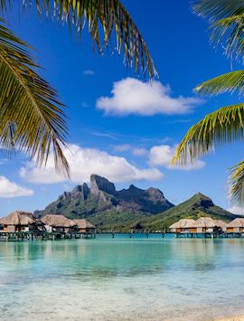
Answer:
M0 176L0 197L12 198L31 195L33 195L33 190L10 182L5 176Z

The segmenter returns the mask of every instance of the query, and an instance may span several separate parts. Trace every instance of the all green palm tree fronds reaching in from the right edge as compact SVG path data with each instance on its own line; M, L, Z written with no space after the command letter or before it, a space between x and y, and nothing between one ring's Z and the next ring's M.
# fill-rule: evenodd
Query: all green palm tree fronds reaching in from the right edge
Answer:
M211 42L222 44L224 53L230 59L243 62L244 53L244 2L238 0L199 0L193 10L209 19ZM195 89L203 96L219 95L225 92L244 91L244 71L230 71L219 77L202 82ZM185 164L204 156L215 146L242 142L244 138L244 103L222 107L193 125L176 149L172 164ZM230 197L244 205L244 160L231 168Z

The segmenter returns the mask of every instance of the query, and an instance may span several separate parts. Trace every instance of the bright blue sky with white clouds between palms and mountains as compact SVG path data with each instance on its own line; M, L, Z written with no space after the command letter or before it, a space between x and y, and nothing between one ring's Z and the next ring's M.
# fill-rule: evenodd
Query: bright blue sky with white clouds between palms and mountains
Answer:
M177 10L170 0L123 4L154 58L159 80L153 86L125 67L123 55L92 52L86 28L78 42L67 25L40 20L34 10L8 14L12 30L36 49L42 76L69 107L73 176L71 182L57 177L51 163L38 170L25 156L3 158L0 216L15 209L42 209L92 173L106 175L117 189L132 183L153 185L173 203L202 192L230 208L228 168L242 159L240 145L216 149L188 170L168 168L174 147L189 127L206 113L239 100L222 95L200 101L192 94L201 81L230 71L230 61L221 49L213 50L208 25L192 14L187 1L178 1Z

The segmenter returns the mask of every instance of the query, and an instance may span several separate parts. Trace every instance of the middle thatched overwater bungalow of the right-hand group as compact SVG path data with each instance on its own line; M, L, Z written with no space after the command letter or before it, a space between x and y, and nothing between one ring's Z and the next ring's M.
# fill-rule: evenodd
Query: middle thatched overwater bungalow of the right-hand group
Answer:
M213 220L211 217L201 217L194 222L194 227L197 233L213 233L224 231L226 222L221 220Z

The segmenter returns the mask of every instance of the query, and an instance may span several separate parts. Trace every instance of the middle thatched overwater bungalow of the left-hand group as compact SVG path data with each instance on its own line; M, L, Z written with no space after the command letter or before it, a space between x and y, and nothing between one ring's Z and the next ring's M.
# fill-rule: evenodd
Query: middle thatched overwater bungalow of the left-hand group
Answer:
M44 224L46 231L69 233L70 231L73 231L74 226L76 225L72 220L58 214L47 214L42 217L41 221Z

